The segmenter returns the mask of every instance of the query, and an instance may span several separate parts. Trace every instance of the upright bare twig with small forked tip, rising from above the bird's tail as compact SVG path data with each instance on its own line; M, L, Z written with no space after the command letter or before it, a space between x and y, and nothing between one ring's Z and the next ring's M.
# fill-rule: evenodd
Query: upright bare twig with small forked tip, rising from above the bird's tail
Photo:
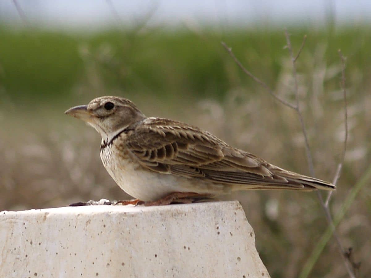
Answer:
M304 135L305 152L306 152L306 158L307 158L307 163L308 163L308 167L309 167L309 172L311 173L312 176L315 176L311 148L309 147L308 136L307 136L307 132L306 132L306 128L305 128L305 123L304 123L303 116L302 116L302 113L301 113L301 110L300 110L298 79L296 77L295 60L296 60L296 57L298 57L298 55L300 54L301 50L299 51L298 55L296 57L294 57L294 54L292 52L290 36L289 36L289 33L287 32L287 30L285 30L285 36L286 36L287 47L289 49L291 62L292 62L292 75L294 77L295 96L296 96L296 112L298 112L299 121L300 121L300 124L301 124L301 127L302 127L302 132L303 132L303 135ZM304 40L304 42L305 42L305 40Z

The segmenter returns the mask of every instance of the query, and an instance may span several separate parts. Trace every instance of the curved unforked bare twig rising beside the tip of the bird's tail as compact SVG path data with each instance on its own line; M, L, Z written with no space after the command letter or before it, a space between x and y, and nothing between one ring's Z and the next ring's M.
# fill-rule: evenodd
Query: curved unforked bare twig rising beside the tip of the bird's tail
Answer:
M345 57L341 53L340 49L338 50L338 53L339 53L339 57L341 59L341 82L340 82L340 86L342 88L343 97L344 97L344 129L345 129L345 135L344 135L343 152L342 152L342 155L341 155L341 158L340 158L340 162L338 164L338 168L336 169L336 173L335 173L335 176L334 176L334 181L332 182L334 185L336 185L336 183L338 183L338 180L339 180L340 175L341 175L341 170L343 168L344 159L345 159L345 152L347 151L348 133L349 133L349 131L348 131L348 101L347 101L347 90L345 89ZM330 202L330 199L331 199L331 196L332 196L332 192L333 191L330 191L327 195L326 202L325 202L326 207L328 207L328 205L329 205L329 202Z

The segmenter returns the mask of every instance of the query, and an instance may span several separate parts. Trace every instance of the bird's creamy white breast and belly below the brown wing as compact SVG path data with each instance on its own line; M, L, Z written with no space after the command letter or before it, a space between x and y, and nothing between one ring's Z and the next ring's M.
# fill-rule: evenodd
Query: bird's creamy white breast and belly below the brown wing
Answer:
M125 136L121 135L120 137ZM121 141L121 140L120 140ZM122 142L122 141L121 141ZM218 195L226 193L226 186L194 178L184 178L143 169L116 148L117 141L104 148L101 159L118 186L134 198L155 201L172 192L196 192Z

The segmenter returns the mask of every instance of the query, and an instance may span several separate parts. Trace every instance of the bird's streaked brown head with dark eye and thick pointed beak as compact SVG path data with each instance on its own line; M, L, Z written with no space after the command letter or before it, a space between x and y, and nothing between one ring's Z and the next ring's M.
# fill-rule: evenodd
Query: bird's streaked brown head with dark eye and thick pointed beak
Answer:
M117 132L146 118L130 100L116 96L97 97L88 105L68 109L65 114L91 125L102 139L112 138Z

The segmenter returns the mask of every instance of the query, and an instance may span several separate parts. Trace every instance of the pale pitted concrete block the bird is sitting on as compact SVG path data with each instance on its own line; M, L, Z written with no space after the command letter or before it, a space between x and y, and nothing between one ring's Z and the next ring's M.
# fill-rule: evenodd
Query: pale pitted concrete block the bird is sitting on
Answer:
M0 277L269 277L239 202L0 213Z

